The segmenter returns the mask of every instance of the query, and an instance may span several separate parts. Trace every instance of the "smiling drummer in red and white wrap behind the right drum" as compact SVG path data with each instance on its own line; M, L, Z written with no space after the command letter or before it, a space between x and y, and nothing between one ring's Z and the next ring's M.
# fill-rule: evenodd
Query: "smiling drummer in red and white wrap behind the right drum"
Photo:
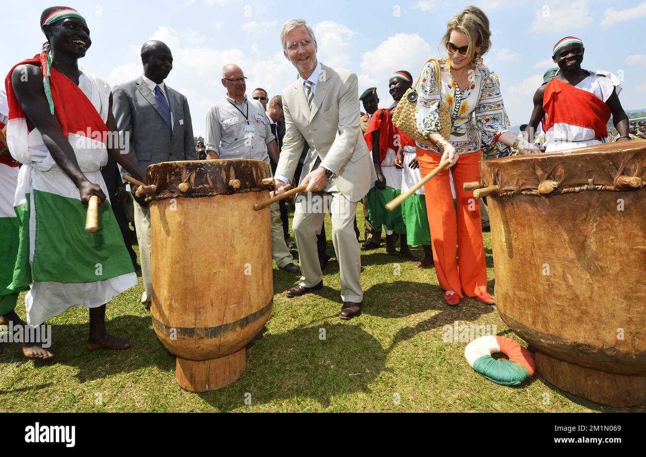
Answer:
M543 123L546 152L583 148L607 143L606 126L612 115L619 132L617 141L629 141L628 116L621 107L621 85L613 74L581 68L585 48L576 37L565 37L554 46L552 60L559 72L534 95L534 111L527 128L534 137Z

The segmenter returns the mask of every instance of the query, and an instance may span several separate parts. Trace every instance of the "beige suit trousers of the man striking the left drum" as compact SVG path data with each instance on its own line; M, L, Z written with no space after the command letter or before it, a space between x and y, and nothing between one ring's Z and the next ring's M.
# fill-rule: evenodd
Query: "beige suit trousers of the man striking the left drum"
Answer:
M316 199L319 199L318 204ZM323 279L318 262L317 236L328 207L332 218L332 242L339 260L341 300L359 303L363 300L363 290L359 241L354 228L357 202L352 203L338 190L299 194L296 199L293 230L302 272L300 285L314 287Z

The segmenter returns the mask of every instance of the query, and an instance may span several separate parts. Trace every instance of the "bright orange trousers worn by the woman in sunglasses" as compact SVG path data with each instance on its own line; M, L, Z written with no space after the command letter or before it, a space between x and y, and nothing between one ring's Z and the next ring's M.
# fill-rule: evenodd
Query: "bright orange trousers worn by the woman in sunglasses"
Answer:
M417 148L417 160L422 176L432 172L439 165L441 158L441 154L437 152ZM455 184L457 214L453 205L448 168L424 186L437 279L442 289L453 290L460 298L475 297L487 292L480 199L474 198L473 190L463 190L464 183L480 179L480 159L480 151L463 154L450 169ZM456 244L459 269L455 258Z

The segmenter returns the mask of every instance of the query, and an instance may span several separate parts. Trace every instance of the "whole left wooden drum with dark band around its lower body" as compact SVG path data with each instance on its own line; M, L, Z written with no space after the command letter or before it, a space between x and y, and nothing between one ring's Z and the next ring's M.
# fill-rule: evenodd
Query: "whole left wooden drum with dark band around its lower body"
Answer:
M273 303L269 166L255 160L169 162L148 167L152 324L177 356L176 380L220 389L245 368L245 345Z

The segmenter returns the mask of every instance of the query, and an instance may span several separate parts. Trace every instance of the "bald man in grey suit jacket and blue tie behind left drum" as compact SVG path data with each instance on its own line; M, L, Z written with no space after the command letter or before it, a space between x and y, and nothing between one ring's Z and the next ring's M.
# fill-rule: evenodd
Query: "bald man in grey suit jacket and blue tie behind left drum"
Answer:
M112 111L126 150L132 150L140 167L168 161L196 160L193 124L185 96L165 85L172 70L172 54L161 41L141 46L143 75L112 91ZM132 187L132 194L136 186ZM141 199L134 203L134 224L141 257L144 292L141 303L151 306L151 214Z

